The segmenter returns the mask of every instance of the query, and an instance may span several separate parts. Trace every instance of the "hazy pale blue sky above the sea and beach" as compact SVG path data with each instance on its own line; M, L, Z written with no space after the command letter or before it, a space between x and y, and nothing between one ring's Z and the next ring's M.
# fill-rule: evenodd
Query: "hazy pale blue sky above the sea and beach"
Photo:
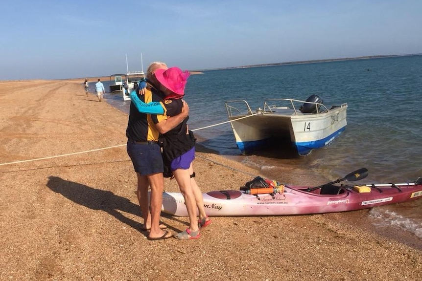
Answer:
M0 80L419 54L421 12L421 0L13 0Z

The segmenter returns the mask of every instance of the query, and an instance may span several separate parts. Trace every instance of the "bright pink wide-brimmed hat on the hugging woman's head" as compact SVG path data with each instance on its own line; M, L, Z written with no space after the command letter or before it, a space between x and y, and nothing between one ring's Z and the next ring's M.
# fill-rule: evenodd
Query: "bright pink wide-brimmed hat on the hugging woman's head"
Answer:
M171 90L177 96L183 96L185 94L185 86L188 82L189 75L189 71L183 71L179 67L157 69L155 71L155 77L158 82L167 89Z

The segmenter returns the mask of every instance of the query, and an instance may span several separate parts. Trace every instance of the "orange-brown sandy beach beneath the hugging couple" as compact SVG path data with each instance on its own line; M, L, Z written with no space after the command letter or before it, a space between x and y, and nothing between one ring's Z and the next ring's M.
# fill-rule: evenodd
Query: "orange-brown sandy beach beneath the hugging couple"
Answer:
M128 116L87 97L82 83L0 82L0 280L422 280L420 247L350 222L366 211L213 217L198 240L148 240L125 147ZM203 192L238 189L259 174L197 150ZM18 162L57 155L65 156ZM165 190L178 186L166 179ZM173 233L188 222L162 220Z

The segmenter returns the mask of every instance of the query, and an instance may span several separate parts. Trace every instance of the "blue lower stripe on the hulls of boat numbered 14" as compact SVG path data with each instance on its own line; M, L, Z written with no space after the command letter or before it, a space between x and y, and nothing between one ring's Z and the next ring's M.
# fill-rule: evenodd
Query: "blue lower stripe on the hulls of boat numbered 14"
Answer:
M306 155L313 149L325 147L331 141L333 141L334 138L340 135L345 129L346 127L343 127L340 130L337 130L334 133L330 134L329 136L320 140L310 141L310 142L297 142L293 144L293 146L296 147L299 155ZM248 142L237 142L236 144L240 152L244 154L249 151L256 151L259 148L266 146L269 143L269 141L270 141L269 139L263 139L263 140L248 141Z

